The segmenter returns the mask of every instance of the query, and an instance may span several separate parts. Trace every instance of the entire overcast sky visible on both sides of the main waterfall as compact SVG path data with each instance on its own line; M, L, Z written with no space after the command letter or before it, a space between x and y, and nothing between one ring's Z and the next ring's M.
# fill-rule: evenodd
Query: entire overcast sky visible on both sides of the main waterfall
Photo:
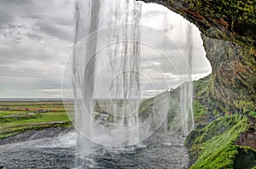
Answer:
M74 2L0 1L0 98L61 98L62 74L73 50ZM143 25L164 31L163 23L169 20L172 24L168 25L171 30L168 36L178 48L185 48L187 21L172 11L168 11L165 18L163 10L160 5L143 3ZM202 48L200 31L195 26L193 36L193 78L198 79L208 75L211 66ZM165 44L159 45L164 47ZM154 64L164 65L164 60L154 59ZM144 61L142 66L147 67L147 64ZM171 75L166 72L166 76ZM151 79L154 78L159 76L152 74Z

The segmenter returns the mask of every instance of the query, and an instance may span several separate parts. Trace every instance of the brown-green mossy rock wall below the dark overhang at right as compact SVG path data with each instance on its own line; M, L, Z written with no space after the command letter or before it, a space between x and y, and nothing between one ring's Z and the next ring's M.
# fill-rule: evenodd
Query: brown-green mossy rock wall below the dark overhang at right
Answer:
M255 110L255 55L252 48L235 42L201 36L212 65L208 97L227 109Z

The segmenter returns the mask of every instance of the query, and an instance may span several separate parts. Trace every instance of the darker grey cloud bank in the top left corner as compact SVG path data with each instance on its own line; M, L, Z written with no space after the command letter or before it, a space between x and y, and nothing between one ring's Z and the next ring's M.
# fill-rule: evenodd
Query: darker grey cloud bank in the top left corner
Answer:
M3 0L0 25L34 24L44 33L73 42L74 3L64 1ZM14 27L13 27L14 28Z

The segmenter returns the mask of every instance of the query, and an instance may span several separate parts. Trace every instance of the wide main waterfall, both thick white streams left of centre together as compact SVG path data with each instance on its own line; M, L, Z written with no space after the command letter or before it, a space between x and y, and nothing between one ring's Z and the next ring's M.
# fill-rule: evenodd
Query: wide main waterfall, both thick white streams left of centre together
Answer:
M140 142L137 110L140 104L138 25L141 3L131 0L107 3L103 0L76 3L73 88L79 149L87 149L84 144L92 143L123 147ZM106 11L109 11L108 18ZM99 31L104 26L115 27ZM101 50L99 46L105 42L108 45ZM99 74L106 77L106 81L97 78ZM97 84L102 86L97 87ZM108 126L95 121L93 110L97 99L111 99L103 108L112 121Z

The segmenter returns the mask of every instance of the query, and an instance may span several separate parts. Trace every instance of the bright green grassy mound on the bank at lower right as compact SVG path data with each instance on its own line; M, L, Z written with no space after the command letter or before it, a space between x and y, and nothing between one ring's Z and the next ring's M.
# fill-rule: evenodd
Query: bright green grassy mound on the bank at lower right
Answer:
M233 168L241 132L247 130L247 118L242 115L220 117L207 127L190 133L186 143L197 161L191 169Z

